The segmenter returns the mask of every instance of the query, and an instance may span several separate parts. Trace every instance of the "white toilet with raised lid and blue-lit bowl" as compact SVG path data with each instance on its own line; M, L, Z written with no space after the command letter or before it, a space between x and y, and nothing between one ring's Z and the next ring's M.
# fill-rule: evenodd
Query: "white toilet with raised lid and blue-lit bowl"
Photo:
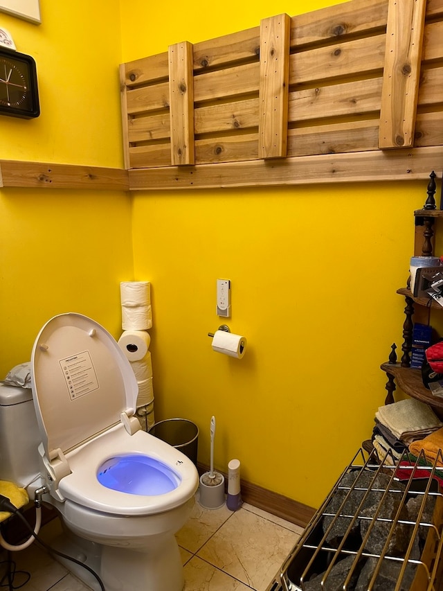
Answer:
M41 443L40 465L28 471L41 479L30 495L48 486L44 501L75 534L75 558L98 572L106 591L180 591L174 534L189 518L198 473L186 455L141 430L136 378L115 339L83 315L56 316L37 336L31 368ZM0 401L0 412L6 408ZM0 443L18 434L17 425L3 429ZM11 441L1 447L17 449ZM12 479L2 471L0 464L0 479ZM75 574L94 586L82 569Z

